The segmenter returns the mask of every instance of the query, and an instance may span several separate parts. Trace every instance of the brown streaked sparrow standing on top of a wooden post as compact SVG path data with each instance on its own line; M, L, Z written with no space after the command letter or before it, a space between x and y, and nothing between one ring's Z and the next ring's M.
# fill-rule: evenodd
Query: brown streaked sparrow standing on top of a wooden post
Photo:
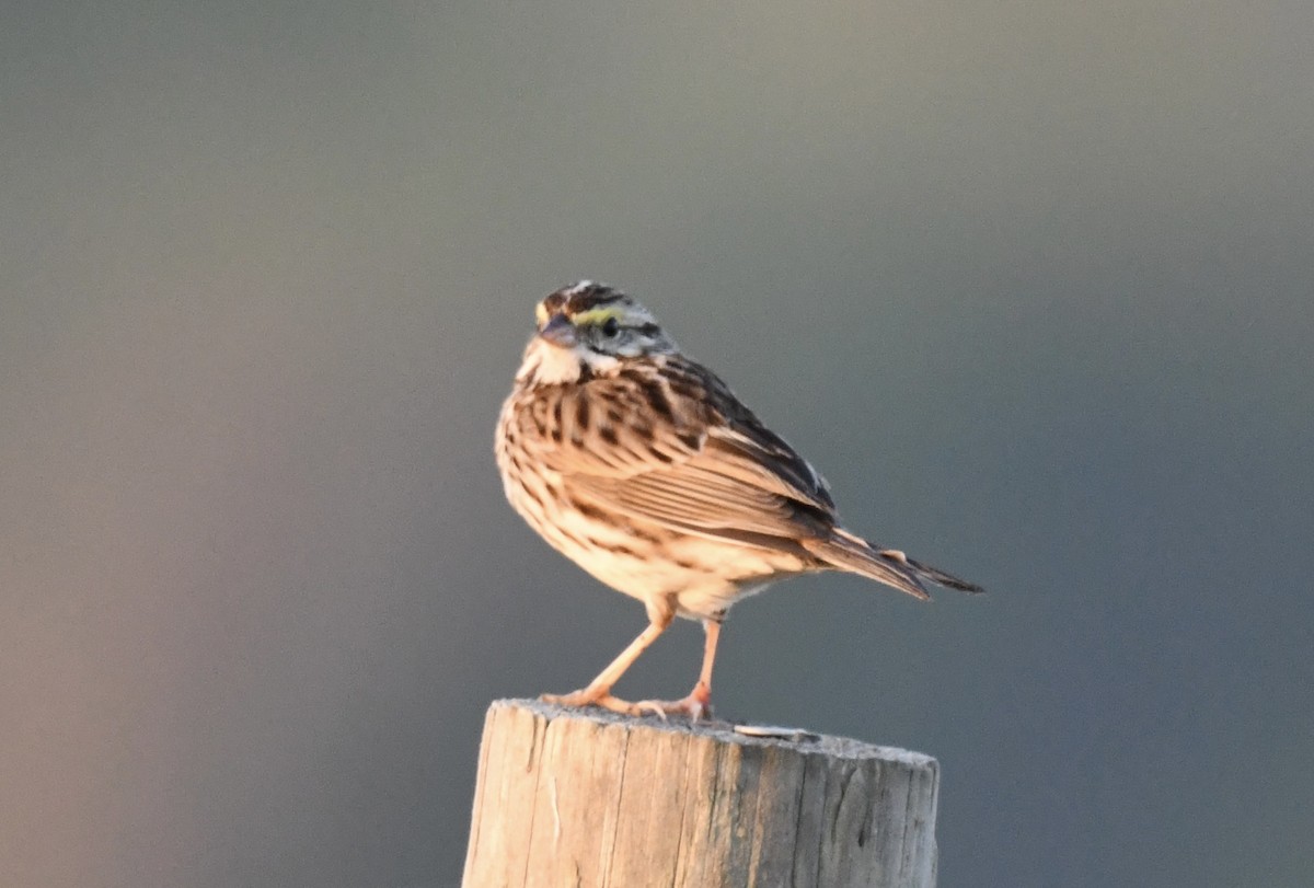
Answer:
M825 479L729 386L686 356L637 300L583 280L543 298L494 453L512 508L557 552L639 599L648 625L587 686L543 700L625 715L711 717L721 621L771 583L819 571L918 599L980 586L841 525ZM675 617L703 661L675 700L612 687Z

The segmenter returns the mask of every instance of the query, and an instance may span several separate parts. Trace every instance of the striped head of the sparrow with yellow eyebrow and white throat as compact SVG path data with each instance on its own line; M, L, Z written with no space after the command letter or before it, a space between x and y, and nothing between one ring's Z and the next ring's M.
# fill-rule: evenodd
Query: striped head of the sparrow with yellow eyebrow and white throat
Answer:
M539 302L535 318L537 330L518 374L532 382L610 376L625 361L677 351L648 309L606 284L581 281L557 290Z

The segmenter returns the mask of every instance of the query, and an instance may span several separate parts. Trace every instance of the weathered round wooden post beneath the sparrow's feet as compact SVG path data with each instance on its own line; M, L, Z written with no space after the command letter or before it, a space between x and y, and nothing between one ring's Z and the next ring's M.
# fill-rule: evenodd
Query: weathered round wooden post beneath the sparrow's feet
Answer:
M464 885L930 887L938 784L840 737L498 700Z

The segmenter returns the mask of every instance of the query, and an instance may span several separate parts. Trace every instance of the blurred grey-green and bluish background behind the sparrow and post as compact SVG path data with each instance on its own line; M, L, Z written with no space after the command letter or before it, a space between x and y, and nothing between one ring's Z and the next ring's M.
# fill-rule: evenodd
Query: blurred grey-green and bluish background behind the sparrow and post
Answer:
M493 464L579 277L991 592L779 586L719 715L938 757L943 885L1314 880L1314 7L3 25L0 883L456 884L487 703L644 625Z

